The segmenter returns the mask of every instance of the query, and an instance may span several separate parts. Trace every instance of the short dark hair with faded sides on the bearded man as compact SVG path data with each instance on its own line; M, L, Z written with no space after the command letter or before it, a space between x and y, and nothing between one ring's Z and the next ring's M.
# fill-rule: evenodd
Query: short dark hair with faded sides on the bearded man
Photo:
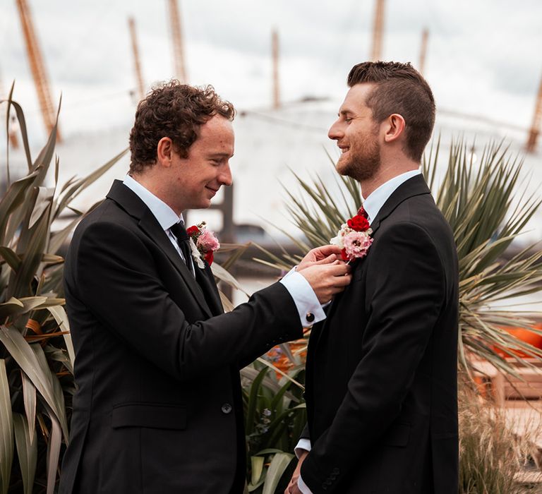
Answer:
M394 113L404 118L405 152L420 162L435 125L433 92L421 73L411 64L363 62L354 65L348 75L350 88L360 83L375 84L365 102L375 121L380 123Z

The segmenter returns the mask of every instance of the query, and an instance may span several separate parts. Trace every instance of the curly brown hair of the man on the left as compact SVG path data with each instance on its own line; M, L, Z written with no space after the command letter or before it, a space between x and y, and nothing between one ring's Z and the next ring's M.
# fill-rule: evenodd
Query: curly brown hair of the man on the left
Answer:
M181 157L188 157L200 126L215 115L231 121L235 109L211 85L197 88L171 80L153 88L135 112L130 131L130 173L140 173L156 163L158 141L163 137L171 139Z

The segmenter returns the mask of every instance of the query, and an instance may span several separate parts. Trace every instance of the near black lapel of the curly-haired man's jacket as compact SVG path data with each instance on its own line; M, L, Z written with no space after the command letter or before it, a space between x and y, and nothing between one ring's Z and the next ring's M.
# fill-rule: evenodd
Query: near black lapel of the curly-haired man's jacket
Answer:
M131 191L119 180L114 181L111 190L107 194L107 198L114 200L128 213L128 215L131 215L135 219L139 220L138 226L140 229L142 229L145 234L147 234L147 236L164 252L164 254L167 255L171 261L171 264L174 265L176 270L179 272L179 275L181 275L183 278L186 286L188 289L190 289L194 298L200 304L201 308L205 312L205 315L207 315L207 317L211 317L212 312L205 301L203 291L195 281L192 273L188 271L188 267L186 267L186 264L183 263L181 256L175 250L166 232L162 229L155 218L155 215L152 214L145 203L138 198L138 195L133 193L133 191ZM196 269L198 268L196 267Z

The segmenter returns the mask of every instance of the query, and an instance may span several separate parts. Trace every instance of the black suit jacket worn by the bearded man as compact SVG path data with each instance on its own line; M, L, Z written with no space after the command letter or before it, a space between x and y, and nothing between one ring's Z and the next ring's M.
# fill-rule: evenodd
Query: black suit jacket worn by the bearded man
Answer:
M457 251L422 176L371 224L352 282L315 325L306 404L315 494L457 494Z

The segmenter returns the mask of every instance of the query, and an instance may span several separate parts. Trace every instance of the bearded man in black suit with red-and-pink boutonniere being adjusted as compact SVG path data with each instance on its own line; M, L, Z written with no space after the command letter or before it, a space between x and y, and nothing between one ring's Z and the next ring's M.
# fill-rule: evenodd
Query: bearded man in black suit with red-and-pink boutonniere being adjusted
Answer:
M373 242L313 327L287 493L457 494L457 251L419 171L435 121L410 64L366 62L329 137Z

